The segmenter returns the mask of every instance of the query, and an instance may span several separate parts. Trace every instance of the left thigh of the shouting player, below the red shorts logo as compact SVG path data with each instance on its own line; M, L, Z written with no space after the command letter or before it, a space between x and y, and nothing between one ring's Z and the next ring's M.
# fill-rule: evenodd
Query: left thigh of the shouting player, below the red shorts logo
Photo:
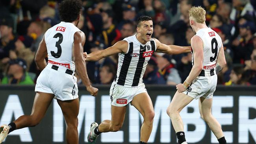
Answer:
M122 126L125 118L126 106L117 107L111 105L111 125Z

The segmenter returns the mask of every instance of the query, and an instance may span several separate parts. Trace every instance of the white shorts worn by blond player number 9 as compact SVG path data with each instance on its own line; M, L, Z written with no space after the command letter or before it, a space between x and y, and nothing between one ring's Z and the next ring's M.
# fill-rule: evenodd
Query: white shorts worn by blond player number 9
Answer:
M200 97L210 99L213 97L216 85L216 74L213 76L198 76L183 93L194 99L198 99Z

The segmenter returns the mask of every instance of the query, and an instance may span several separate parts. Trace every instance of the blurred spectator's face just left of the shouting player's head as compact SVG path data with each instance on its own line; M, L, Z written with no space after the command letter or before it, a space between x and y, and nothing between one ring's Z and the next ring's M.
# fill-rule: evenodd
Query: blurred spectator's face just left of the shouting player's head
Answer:
M130 37L135 33L135 24L132 21L126 21L121 29L121 39Z

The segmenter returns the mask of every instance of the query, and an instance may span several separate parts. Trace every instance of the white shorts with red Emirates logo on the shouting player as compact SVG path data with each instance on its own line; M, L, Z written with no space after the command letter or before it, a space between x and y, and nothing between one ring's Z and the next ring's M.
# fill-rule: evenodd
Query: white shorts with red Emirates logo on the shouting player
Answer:
M114 81L109 91L111 105L117 107L124 107L132 101L134 96L143 92L147 92L144 83L142 83L138 87L124 87L121 85L117 85Z

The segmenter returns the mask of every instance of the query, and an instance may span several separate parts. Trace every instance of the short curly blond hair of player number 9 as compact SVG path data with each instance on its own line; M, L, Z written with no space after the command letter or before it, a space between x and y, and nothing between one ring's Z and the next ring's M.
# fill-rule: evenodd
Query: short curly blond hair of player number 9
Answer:
M189 10L189 17L192 17L196 22L201 24L205 22L205 14L206 14L206 11L201 6L198 6L198 7L193 6Z

